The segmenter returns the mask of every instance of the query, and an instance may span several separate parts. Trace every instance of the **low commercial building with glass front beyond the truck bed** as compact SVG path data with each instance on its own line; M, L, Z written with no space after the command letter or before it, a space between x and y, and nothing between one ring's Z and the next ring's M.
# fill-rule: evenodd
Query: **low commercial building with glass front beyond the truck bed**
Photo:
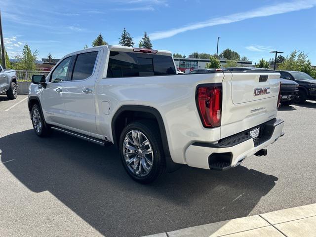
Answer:
M173 58L176 66L180 71L186 72L193 69L206 68L206 64L210 62L209 59L202 58ZM221 68L225 68L226 60L220 59ZM251 67L251 61L237 61L237 67Z

